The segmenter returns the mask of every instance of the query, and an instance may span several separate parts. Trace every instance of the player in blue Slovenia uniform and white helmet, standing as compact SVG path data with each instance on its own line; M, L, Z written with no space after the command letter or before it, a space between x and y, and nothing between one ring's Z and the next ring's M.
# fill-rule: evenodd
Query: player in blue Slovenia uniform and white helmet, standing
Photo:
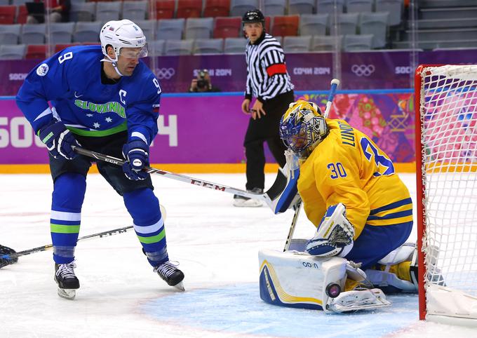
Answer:
M53 177L51 237L58 295L74 298L74 250L81 223L90 159L79 146L124 157L121 168L98 170L123 196L149 264L168 285L184 290L184 273L171 264L159 200L149 174L149 145L158 132L161 88L140 60L147 56L142 29L130 20L109 21L101 46L73 46L35 67L16 97L36 135L48 147ZM48 104L49 102L49 104Z

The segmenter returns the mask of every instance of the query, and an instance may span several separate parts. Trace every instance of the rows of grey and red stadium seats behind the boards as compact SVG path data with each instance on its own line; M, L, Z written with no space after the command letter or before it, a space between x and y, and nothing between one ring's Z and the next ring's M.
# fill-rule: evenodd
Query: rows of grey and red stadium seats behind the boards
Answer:
M174 50L243 53L246 40L241 16L260 4L267 32L278 40L287 38L283 39L287 53L333 50L333 34L340 34L338 42L344 51L366 48L370 36L369 49L408 48L410 39L403 15L404 0L77 0L72 1L70 22L51 23L50 29L44 24L26 24L25 2L0 0L2 45L40 46L48 41L47 32L55 44L98 43L99 29L95 29L107 20L128 18L142 27L150 45L154 45L151 55ZM455 8L439 8L437 2L419 2L419 47L477 46L475 1L450 1ZM333 25L335 18L338 29ZM436 27L438 32L432 32ZM177 48L168 41L188 42L178 43ZM39 55L35 54L38 47L26 50L25 57Z

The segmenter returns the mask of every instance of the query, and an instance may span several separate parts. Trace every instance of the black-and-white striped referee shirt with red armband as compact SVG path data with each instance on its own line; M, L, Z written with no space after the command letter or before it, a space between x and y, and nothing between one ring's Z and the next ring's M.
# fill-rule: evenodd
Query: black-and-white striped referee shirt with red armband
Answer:
M290 90L293 84L286 70L285 54L276 39L264 34L254 44L247 43L247 86L245 97L264 102Z

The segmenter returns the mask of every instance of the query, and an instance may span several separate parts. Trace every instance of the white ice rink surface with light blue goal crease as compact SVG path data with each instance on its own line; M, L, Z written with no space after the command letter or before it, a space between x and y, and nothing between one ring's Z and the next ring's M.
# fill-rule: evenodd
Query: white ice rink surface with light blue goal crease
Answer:
M245 175L191 174L242 188ZM415 175L401 174L415 201ZM0 337L476 337L477 330L419 322L417 296L390 296L374 312L325 315L265 304L258 291L260 248L282 250L293 212L235 208L232 196L153 175L166 206L170 258L186 292L152 272L133 231L79 241L74 301L56 295L51 250L0 270ZM267 175L271 184L274 175ZM50 175L0 175L0 243L17 251L51 243ZM80 236L132 224L117 195L89 175ZM304 212L295 238L314 227ZM415 232L410 240L415 240Z

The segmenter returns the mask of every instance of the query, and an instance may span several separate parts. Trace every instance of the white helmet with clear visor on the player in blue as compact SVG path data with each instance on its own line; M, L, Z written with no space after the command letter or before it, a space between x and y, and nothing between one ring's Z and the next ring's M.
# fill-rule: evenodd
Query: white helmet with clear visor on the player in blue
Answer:
M147 56L146 36L139 26L131 20L112 20L105 23L100 32L102 53L109 62L116 62L121 54L121 48L142 48L140 53L125 55L132 58L144 58ZM116 53L116 58L109 58L106 46L111 45ZM108 60L105 60L108 61Z

